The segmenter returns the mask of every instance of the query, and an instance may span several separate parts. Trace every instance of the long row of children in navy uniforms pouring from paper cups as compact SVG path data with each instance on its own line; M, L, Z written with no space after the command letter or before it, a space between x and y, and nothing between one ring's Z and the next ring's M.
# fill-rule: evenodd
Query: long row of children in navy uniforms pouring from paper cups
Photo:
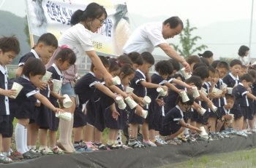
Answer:
M121 84L107 86L102 73L93 64L89 73L76 81L75 113L72 115L74 140L71 134L67 143L59 143L56 132L61 119L56 113L65 111L62 105L65 97L61 92L53 92L53 80L63 81L63 71L76 61L75 53L67 45L58 47L55 36L43 34L35 47L20 58L17 78L9 80L6 65L18 55L20 46L13 36L0 39L1 163L74 152L66 150L64 145L72 146L75 151L177 145L187 140L186 135L200 135L200 127L205 127L213 137L227 127L249 128L248 131L253 132L256 100L256 71L253 68L241 71L240 60L232 60L228 65L223 61L211 63L212 57L207 60L194 55L187 58L190 71L184 71L192 76L184 80L184 76L177 73L180 67L176 60L161 60L155 64L151 53L131 52L116 58L99 56L110 74L119 77ZM56 49L58 54L49 65ZM47 64L48 69L45 68ZM152 65L156 73L149 76ZM52 76L42 81L46 71ZM14 82L23 87L16 98L13 98L16 95L16 90L12 89ZM133 92L126 92L127 88L132 88ZM195 89L199 93L197 96L193 94ZM217 89L222 92L216 92ZM159 90L165 94L159 94ZM143 99L146 96L151 98L150 103ZM122 97L126 103L134 101L134 106L127 103L122 108L117 97ZM201 112L203 109L205 113ZM105 128L108 128L107 144L102 143ZM17 151L11 149L14 129ZM142 140L138 140L140 132ZM122 133L127 137L125 145Z

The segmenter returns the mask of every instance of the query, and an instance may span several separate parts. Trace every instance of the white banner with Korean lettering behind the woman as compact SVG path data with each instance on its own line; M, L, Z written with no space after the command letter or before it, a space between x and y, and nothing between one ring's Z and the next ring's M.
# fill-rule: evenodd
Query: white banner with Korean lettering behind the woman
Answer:
M29 33L41 36L53 33L57 39L70 25L70 18L77 10L86 9L89 0L26 0ZM121 55L122 47L129 38L127 5L121 1L94 1L105 7L108 18L92 37L94 48L109 55Z

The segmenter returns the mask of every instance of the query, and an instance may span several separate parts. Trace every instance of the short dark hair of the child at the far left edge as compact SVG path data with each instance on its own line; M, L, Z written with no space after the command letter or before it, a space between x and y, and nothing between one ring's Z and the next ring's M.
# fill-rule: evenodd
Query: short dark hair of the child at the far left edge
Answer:
M15 36L0 38L0 49L3 52L15 52L16 55L20 52L20 43Z

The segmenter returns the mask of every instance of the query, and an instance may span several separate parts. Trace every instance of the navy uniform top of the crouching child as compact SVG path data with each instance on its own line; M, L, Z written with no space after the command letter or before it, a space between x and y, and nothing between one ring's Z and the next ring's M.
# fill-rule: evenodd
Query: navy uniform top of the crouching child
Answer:
M176 125L180 125L181 119L183 119L183 111L176 105L172 108L167 114L165 114L163 120L163 127L176 127Z

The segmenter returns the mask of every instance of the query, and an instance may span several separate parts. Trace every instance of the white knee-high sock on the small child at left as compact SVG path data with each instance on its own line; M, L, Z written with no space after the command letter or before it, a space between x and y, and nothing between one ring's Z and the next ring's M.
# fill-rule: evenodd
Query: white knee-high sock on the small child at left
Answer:
M26 148L24 146L24 129L25 127L17 123L15 127L15 140L16 140L16 149L20 153L26 153Z

